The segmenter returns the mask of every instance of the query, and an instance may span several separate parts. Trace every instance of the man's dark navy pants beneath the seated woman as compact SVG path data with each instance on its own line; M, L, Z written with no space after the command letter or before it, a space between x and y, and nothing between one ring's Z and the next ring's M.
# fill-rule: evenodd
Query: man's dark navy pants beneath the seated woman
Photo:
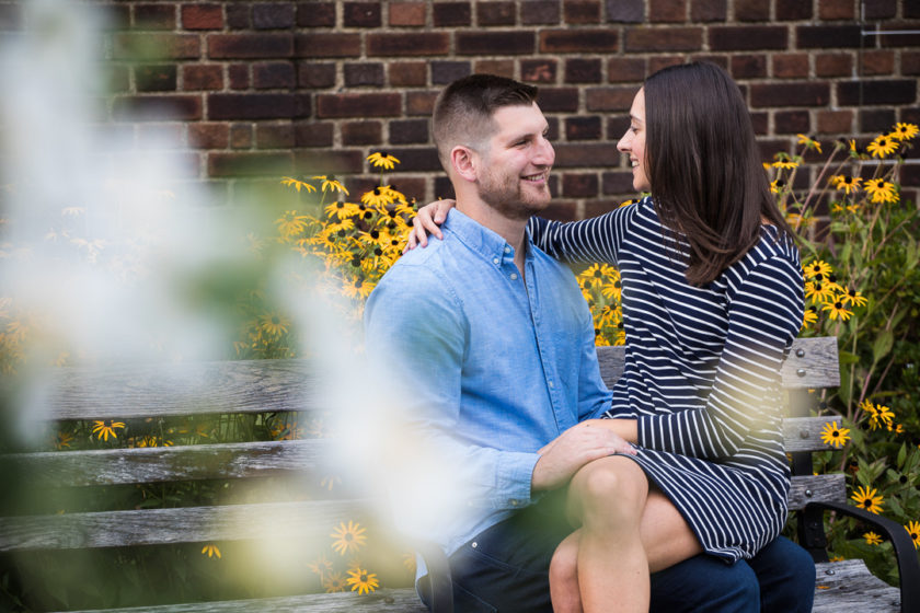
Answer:
M549 567L572 532L557 497L533 505L465 543L450 557L458 613L551 612ZM427 577L419 592L427 602ZM808 553L779 537L750 560L698 555L652 575L652 612L807 613L815 590Z

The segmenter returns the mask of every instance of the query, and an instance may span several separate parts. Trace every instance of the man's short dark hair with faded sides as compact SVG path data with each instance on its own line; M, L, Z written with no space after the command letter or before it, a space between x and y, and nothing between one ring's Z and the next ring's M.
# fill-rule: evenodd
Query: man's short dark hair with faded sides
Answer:
M450 83L435 102L432 134L441 165L450 172L458 144L481 148L492 134L492 115L503 106L529 106L537 88L495 74L471 74Z

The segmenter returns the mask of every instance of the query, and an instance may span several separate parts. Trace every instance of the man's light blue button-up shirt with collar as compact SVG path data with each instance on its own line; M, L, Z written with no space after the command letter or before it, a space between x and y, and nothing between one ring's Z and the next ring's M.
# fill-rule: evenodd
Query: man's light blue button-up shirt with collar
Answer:
M365 329L368 357L412 390L413 426L463 487L468 513L415 534L450 555L536 501L538 450L598 417L610 393L568 268L528 236L521 277L511 245L457 209L441 230L442 241L409 252L383 276Z

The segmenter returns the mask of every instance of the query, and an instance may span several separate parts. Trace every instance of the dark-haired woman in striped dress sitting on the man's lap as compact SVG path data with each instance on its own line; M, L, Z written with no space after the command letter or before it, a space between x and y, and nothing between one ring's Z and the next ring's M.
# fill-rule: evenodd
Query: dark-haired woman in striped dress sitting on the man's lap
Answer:
M647 610L649 571L701 552L749 559L787 512L779 372L803 280L741 94L716 66L666 68L636 94L618 148L651 196L529 227L556 257L620 269L624 371L607 418L583 426L637 450L572 479L578 528L550 568L557 611Z

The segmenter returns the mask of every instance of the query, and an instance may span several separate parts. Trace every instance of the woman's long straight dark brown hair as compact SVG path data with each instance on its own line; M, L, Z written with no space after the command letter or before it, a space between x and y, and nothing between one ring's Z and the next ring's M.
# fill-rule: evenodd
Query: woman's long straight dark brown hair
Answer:
M732 78L694 62L659 70L644 88L648 182L663 223L690 244L687 280L709 284L740 259L762 219L794 240Z

